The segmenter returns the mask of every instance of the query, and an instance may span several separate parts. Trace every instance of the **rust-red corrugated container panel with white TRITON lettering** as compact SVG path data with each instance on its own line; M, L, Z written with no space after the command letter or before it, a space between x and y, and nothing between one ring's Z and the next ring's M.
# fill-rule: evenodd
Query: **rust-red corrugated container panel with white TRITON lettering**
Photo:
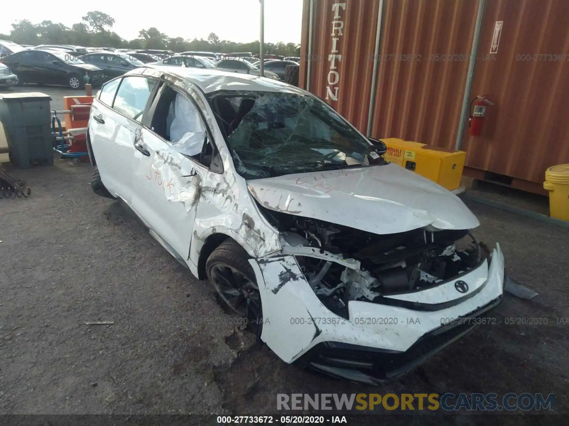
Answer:
M305 0L304 3L303 24L307 27L309 13L307 3L310 4L310 0ZM345 9L338 6L339 4L345 4ZM344 0L341 3L318 0L315 2L310 91L321 99L325 99L327 87L332 93L335 93L337 87L337 101L328 96L326 102L364 133L368 122L372 86L378 5L377 0ZM337 14L335 9L338 11ZM333 30L333 21L342 22L342 24L336 23L336 28L342 26L341 35L337 29ZM332 36L332 33L335 35ZM304 39L307 38L307 35L304 36ZM337 52L335 53L332 52L333 38L339 39L336 41ZM301 50L303 62L300 66L301 82L304 81L306 75L307 64L304 61L306 59L304 55L307 53L307 47L303 47ZM335 74L329 74L332 66L329 55L332 54L341 55L341 60L336 62L336 69L333 70L338 73L335 85L329 83L334 82L336 78Z

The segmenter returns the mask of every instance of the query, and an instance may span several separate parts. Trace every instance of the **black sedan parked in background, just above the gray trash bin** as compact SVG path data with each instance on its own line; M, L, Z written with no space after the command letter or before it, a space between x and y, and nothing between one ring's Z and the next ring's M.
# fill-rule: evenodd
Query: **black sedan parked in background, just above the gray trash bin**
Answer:
M85 83L101 84L104 73L85 64L74 53L33 49L13 53L2 62L18 76L18 83L56 84L80 89Z

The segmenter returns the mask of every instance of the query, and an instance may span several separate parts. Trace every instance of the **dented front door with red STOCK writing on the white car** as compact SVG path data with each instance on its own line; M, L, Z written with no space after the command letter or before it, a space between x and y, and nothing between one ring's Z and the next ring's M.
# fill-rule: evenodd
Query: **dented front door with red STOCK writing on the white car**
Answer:
M187 264L200 189L222 169L203 114L181 87L163 83L143 123L145 152L135 153L131 185L134 210Z

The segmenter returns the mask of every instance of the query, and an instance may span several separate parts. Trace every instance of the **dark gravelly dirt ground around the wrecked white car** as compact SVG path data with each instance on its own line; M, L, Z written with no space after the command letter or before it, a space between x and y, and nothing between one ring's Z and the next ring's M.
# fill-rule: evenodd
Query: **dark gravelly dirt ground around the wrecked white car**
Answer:
M509 274L539 296L506 295L492 313L497 324L481 325L400 381L372 387L286 365L238 331L207 282L90 190L89 164L7 169L32 195L0 199L0 414L274 414L277 393L387 391L555 392L555 413L569 411L568 325L559 323L569 321L568 229L471 204L476 235L499 241ZM514 317L547 324L504 324ZM85 325L97 320L114 324Z

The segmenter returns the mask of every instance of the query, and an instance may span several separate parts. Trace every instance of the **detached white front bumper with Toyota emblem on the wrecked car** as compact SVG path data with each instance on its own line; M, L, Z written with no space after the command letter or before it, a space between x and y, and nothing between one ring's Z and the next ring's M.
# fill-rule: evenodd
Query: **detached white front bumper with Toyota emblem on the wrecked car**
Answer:
M265 313L261 339L283 361L302 358L300 362L337 377L373 383L397 377L470 331L476 322L464 323L464 318L480 316L500 302L504 291L500 245L496 244L491 259L460 276L470 289L464 295L452 280L390 296L387 304L352 300L348 319L320 302L294 256L250 260Z

